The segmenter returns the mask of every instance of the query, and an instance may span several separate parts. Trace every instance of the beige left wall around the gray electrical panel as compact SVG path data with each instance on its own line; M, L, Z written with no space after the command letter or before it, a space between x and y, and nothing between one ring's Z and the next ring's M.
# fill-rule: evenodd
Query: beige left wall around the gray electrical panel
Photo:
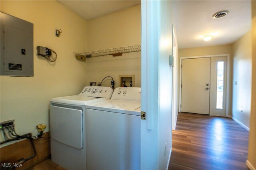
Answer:
M57 1L1 1L1 11L34 24L34 77L1 76L1 121L15 119L19 134L37 134L36 125L49 130L52 97L80 93L86 85L85 63L73 52L86 50L87 21ZM61 29L59 38L55 29ZM57 52L55 63L36 55L36 46Z

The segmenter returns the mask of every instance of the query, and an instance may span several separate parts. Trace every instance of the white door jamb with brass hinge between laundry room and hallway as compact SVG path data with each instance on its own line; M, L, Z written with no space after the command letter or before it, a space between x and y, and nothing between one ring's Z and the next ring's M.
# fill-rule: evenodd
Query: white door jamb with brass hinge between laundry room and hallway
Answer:
M141 1L140 169L158 169L160 1ZM146 31L145 31L146 30Z

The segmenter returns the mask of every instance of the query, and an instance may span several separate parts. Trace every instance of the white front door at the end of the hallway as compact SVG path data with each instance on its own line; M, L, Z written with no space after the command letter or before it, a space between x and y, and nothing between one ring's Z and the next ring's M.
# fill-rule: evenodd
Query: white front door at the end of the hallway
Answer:
M209 115L210 57L182 59L181 112Z

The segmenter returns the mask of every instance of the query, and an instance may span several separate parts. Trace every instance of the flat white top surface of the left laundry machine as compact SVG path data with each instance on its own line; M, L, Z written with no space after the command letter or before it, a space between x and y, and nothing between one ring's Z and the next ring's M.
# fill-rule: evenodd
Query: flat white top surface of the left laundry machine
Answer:
M97 98L97 97L87 97L82 95L74 95L74 96L66 96L66 97L56 97L52 98L51 102L56 103L64 103L71 105L87 105L88 103L96 103L107 100L105 97Z

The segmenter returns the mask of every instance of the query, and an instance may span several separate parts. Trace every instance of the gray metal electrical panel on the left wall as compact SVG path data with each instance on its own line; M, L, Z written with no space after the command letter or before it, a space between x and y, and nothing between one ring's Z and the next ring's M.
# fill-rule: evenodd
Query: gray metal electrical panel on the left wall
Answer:
M34 76L33 24L1 12L1 75Z

